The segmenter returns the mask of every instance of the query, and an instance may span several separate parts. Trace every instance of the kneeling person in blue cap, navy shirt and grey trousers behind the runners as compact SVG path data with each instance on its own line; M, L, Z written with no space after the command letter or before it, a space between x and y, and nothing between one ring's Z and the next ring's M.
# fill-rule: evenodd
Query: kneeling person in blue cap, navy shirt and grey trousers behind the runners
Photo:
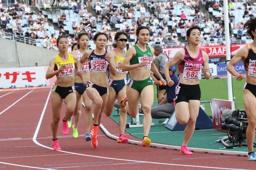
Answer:
M173 99L175 98L176 86L179 83L177 76L175 76L175 71L175 66L169 68L169 76L174 81L174 85L171 87L166 86L166 94L160 99L160 103L151 109L151 116L154 119L169 118L175 110ZM151 75L151 77L153 81L155 81L155 85L162 85L162 83L158 81L153 75ZM166 119L163 124L166 124L167 121L168 119Z

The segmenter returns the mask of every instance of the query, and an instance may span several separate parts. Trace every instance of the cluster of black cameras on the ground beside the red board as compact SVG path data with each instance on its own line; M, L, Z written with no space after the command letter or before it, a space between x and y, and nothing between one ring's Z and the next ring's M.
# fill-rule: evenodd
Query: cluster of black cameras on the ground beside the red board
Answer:
M226 116L222 118L221 128L227 131L227 136L216 142L221 142L226 148L247 146L246 143L246 129L248 127L248 119L245 110L234 110L232 117ZM229 145L226 143L233 143ZM255 144L255 143L254 143ZM255 145L253 147L256 147Z

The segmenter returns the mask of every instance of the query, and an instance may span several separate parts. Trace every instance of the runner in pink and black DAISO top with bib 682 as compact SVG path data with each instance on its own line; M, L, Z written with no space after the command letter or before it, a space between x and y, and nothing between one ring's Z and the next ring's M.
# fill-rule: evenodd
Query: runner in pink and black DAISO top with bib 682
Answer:
M201 28L198 25L192 25L187 30L188 46L178 51L173 59L164 66L164 74L168 86L174 82L169 76L169 68L178 63L180 71L180 81L176 87L176 97L174 98L175 117L181 125L187 124L184 130L183 144L181 153L192 155L187 149L187 144L191 139L196 125L196 119L199 113L201 89L199 86L199 73L202 69L205 79L210 78L209 57L199 49L201 42Z

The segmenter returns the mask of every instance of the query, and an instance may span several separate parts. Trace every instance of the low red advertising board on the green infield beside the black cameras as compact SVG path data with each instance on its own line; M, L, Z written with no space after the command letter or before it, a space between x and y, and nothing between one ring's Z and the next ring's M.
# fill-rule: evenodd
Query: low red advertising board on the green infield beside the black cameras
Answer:
M229 100L212 99L212 107L213 128L216 130L221 130L223 111L226 109L234 110L235 103L234 101Z

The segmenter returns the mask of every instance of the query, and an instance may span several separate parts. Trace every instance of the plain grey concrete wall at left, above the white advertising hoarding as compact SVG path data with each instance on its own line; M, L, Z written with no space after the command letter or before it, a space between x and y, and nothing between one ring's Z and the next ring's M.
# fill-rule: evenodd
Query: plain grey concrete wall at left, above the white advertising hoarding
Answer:
M58 51L0 38L0 68L49 65Z

